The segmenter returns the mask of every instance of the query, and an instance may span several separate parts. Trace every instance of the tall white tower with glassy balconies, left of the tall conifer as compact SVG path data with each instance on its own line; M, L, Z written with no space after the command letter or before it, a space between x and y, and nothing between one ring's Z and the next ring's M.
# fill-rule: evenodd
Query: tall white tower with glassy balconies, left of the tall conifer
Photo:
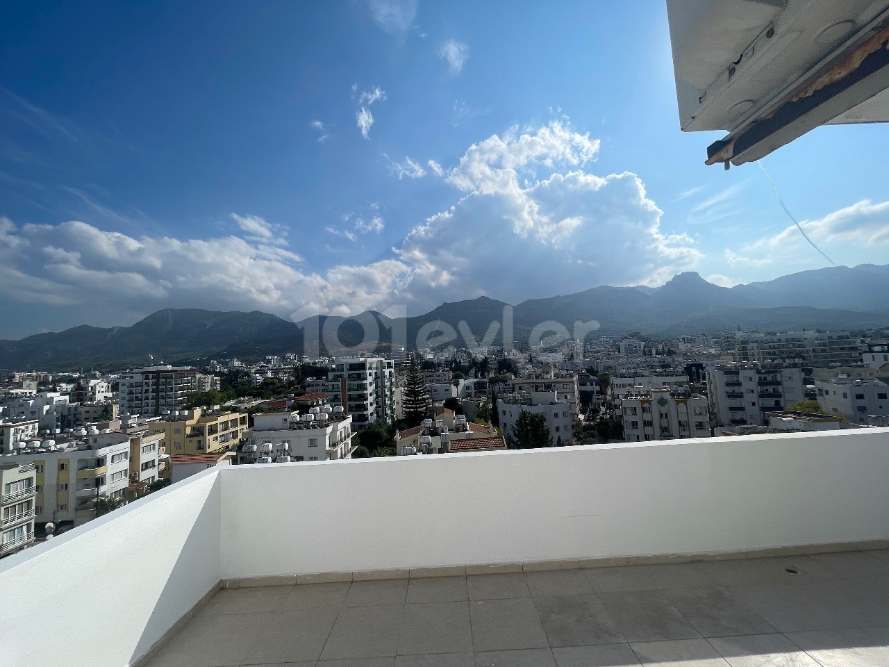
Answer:
M392 359L340 358L328 374L333 405L352 415L356 427L391 422L395 415L395 370Z

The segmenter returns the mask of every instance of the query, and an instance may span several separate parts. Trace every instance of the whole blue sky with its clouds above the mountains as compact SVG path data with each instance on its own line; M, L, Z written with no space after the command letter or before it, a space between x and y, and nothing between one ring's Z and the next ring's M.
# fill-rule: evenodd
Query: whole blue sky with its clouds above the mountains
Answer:
M720 136L680 132L651 0L12 4L0 337L824 266ZM886 261L887 136L765 159L837 264Z

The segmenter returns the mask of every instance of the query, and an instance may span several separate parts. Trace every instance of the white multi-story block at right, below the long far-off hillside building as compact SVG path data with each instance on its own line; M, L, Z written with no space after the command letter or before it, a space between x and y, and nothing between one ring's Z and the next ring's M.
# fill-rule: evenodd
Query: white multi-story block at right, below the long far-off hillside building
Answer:
M765 413L805 400L803 371L781 365L728 364L707 373L710 412L719 426L765 425Z

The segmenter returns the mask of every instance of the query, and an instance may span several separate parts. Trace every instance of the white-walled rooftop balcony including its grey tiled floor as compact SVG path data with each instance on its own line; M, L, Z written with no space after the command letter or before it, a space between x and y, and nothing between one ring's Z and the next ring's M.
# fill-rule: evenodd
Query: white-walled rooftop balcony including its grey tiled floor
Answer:
M4 665L889 664L887 436L204 470L0 561Z

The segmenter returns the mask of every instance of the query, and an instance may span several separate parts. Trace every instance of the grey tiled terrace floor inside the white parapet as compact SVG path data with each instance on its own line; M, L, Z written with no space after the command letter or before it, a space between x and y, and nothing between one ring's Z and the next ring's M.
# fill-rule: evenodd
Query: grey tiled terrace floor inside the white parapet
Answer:
M228 589L149 664L889 665L889 550Z

